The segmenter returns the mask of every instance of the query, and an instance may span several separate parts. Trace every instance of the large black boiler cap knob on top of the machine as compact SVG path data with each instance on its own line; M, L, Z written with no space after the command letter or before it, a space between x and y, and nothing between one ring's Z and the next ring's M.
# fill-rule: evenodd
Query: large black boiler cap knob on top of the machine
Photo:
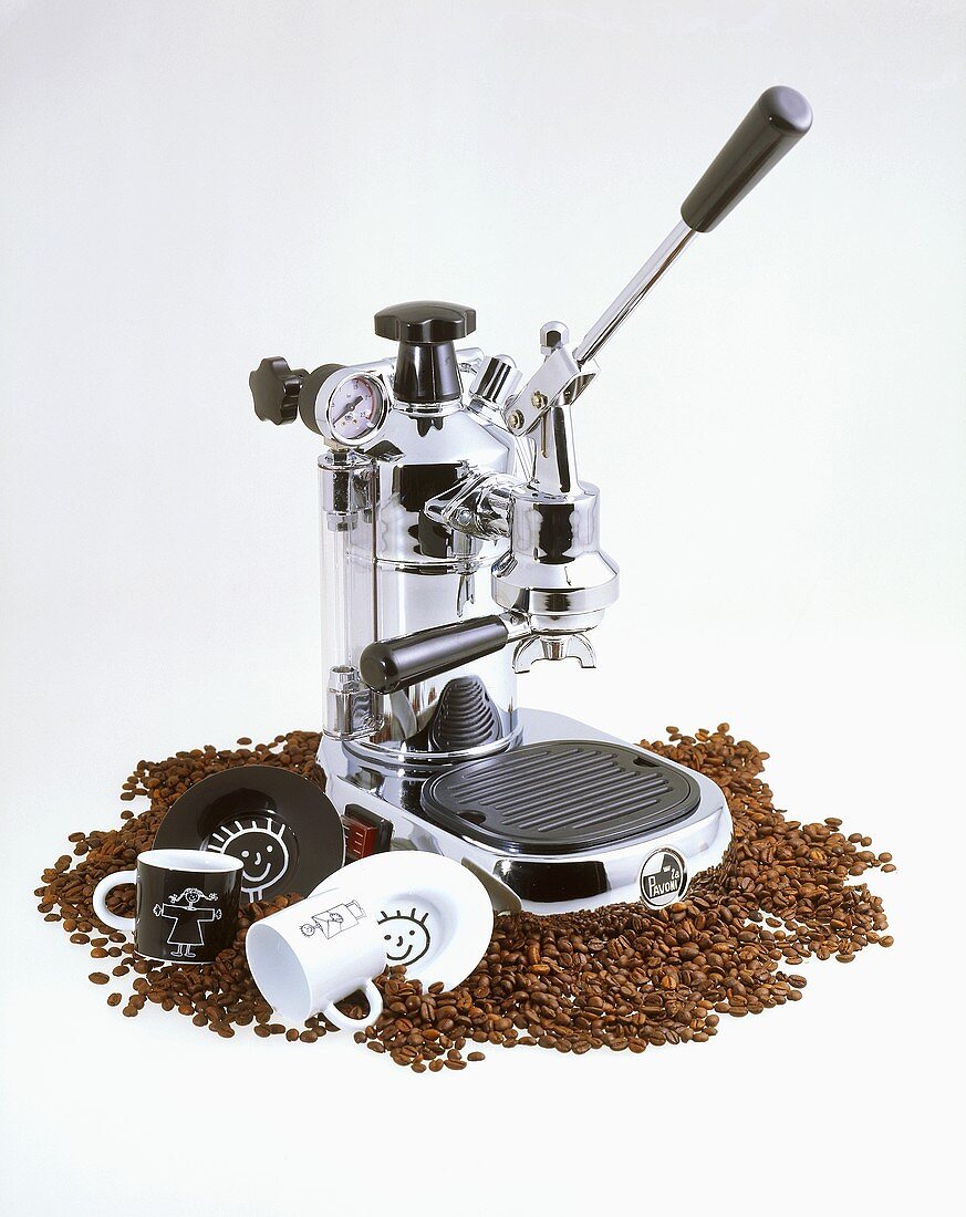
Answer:
M476 330L476 309L444 301L410 301L376 313L376 333L399 343L393 376L397 400L414 405L455 402L462 381L453 343Z

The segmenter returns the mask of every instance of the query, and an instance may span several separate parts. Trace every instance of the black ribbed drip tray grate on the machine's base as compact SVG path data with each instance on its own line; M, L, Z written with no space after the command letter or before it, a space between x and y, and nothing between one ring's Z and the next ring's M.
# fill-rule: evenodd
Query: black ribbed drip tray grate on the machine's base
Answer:
M507 853L617 846L685 819L700 798L689 774L597 740L528 744L450 769L422 791L431 823Z

